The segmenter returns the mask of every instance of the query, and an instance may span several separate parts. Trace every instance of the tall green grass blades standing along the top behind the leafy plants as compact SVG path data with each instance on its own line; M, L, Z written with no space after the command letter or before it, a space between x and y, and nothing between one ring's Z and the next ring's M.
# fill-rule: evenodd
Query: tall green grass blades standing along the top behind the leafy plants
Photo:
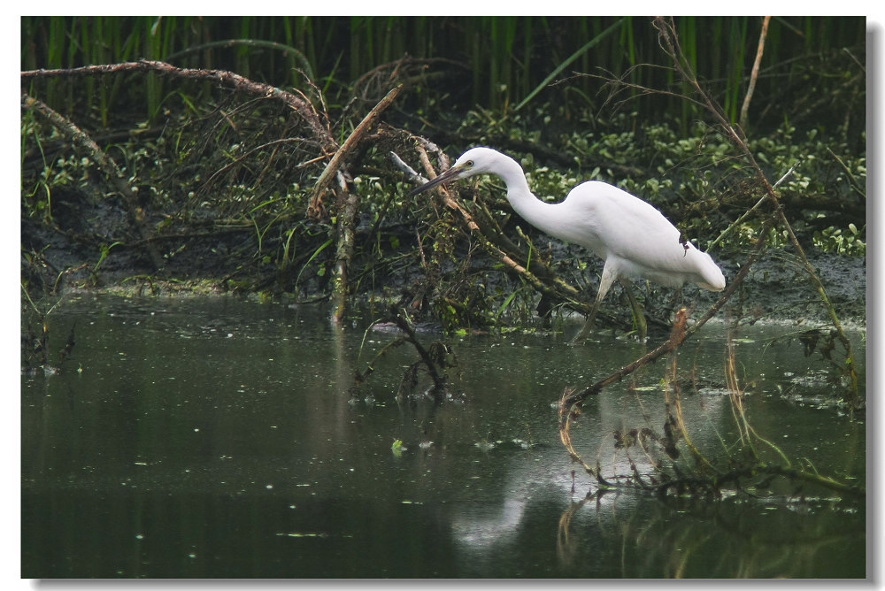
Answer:
M685 16L676 21L690 65L719 92L731 119L736 119L746 90L760 20ZM567 68L562 67L617 22L616 35L607 36L592 50L580 53ZM661 80L660 68L630 70L635 65L666 65L650 19L640 17L22 17L21 32L23 69L164 59L189 48L230 39L280 43L303 54L303 61L296 61L284 50L235 45L189 53L186 65L230 69L276 86L301 89L305 89L306 81L296 70L304 69L304 64L310 65L322 82L320 86L332 83L347 88L361 74L405 54L450 58L468 65L472 72L469 88L458 88L467 91L466 100L493 109L524 102L555 72L558 80L573 71L599 73L602 68L620 75L629 70L629 81L635 85L660 88L661 82L666 83ZM846 46L862 52L865 43L864 18L776 18L769 28L763 68L782 63L781 73L786 69L789 75L790 68L797 67L787 62L789 58ZM101 88L99 81L90 83L95 85L90 90L96 90L98 96L96 99L89 92L89 100L97 100L103 112L113 101L135 96L147 100L150 117L158 112L163 82L156 77L149 76L146 92L127 93L120 88L119 80L109 83L112 88ZM598 90L598 82L594 86L591 79L567 84L579 91L575 96L595 96ZM758 92L776 93L778 84L782 79L761 76ZM47 102L56 107L61 102L71 104L76 97L68 88L70 85L63 81L49 81ZM133 96L122 96L127 94ZM677 107L676 100L646 97L637 109L650 116L678 108L682 119L689 119L690 105L679 102Z

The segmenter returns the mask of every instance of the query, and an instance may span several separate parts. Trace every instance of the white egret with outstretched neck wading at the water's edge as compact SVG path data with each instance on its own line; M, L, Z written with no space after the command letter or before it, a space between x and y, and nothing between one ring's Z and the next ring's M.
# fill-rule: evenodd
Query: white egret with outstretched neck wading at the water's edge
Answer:
M529 224L560 240L580 244L603 259L596 300L575 341L589 334L599 303L615 280L627 288L643 334L643 312L632 297L630 279L644 278L671 288L681 288L686 282L712 291L725 288L719 265L694 244L682 240L680 231L660 211L599 180L582 182L561 203L545 203L532 194L516 160L481 147L467 150L448 171L414 189L412 195L448 180L484 173L504 180L507 201Z

